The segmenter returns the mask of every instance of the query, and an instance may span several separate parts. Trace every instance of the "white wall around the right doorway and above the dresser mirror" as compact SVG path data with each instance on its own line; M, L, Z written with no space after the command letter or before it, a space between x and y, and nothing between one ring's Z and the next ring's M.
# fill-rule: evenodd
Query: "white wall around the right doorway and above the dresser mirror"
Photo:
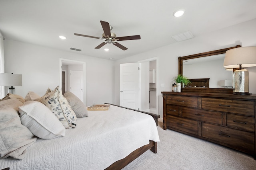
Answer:
M178 74L178 57L234 47L236 45L242 45L242 47L256 46L255 30L256 19L115 61L115 103L119 104L120 63L134 63L158 57L158 114L162 117L163 99L161 91L171 90L172 79ZM166 36L166 38L171 38L168 37L171 35ZM256 67L247 69L249 71L249 92L256 94ZM164 84L164 88L161 88L160 84Z

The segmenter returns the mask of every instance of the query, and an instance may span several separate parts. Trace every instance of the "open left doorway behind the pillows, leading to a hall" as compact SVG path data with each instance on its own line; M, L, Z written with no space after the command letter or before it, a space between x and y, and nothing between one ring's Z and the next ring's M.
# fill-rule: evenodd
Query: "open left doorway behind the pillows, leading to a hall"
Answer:
M70 84L72 84L74 81L70 80L70 70L80 70L82 73L82 76L80 76L80 84L82 84L82 88L80 87L80 92L79 95L75 94L78 98L82 99L81 101L86 105L86 63L82 61L75 61L75 60L69 60L69 59L60 59L60 66L59 66L59 87L62 90L63 88L65 89L66 86L66 91L70 91ZM66 78L65 78L65 86L62 85L62 72L66 71ZM72 81L70 83L70 81ZM64 92L62 90L62 92ZM73 92L72 92L73 93Z

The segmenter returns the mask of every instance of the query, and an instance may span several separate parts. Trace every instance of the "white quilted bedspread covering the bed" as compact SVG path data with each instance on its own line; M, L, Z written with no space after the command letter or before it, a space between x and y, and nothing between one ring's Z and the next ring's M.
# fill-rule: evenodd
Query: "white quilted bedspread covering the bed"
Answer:
M23 160L0 160L10 170L103 170L132 151L160 141L154 119L147 114L110 106L108 111L88 111L65 137L38 139Z

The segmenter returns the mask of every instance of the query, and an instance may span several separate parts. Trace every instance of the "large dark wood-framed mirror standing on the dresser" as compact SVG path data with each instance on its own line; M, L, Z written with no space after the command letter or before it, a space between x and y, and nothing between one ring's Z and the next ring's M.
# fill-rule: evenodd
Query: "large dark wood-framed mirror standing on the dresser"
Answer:
M200 81L200 79L202 79L202 81L204 81L205 79L208 79L208 81L210 81L209 83L210 85L207 88L202 88L202 87L195 88L192 86L193 88L183 88L182 91L194 92L194 91L204 90L207 92L216 91L216 92L232 93L233 92L232 87L225 88L224 86L221 86L220 79L223 79L223 80L230 79L232 81L232 75L233 75L232 69L231 71L225 70L225 68L223 67L223 61L224 61L225 53L227 50L238 48L238 47L241 47L241 45L237 45L235 47L230 47L226 49L219 49L219 50L208 51L204 53L198 53L194 55L178 57L178 74L182 74L188 78L192 78L193 80ZM216 65L213 66L214 64ZM206 72L208 74L205 74ZM230 77L230 78L226 78L226 77Z

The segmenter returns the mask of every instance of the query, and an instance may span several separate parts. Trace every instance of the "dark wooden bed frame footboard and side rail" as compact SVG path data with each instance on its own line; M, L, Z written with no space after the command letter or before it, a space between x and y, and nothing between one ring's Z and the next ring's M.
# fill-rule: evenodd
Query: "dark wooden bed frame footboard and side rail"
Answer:
M105 104L109 104L109 103L105 103ZM114 104L111 104L111 105L118 106L118 105L114 105ZM122 106L118 106L118 107L122 107ZM128 107L122 107L122 108L130 109ZM153 113L148 113L148 112L145 112L145 111L139 111L139 110L135 110L135 109L130 109L130 110L134 110L134 111L138 111L138 112L141 112L141 113L146 113L148 115L151 115L154 118L155 122L156 122L156 126L158 125L158 118L160 118L160 115L156 115L156 114L153 114ZM121 160L118 160L118 161L114 162L112 165L110 165L105 170L121 170L126 165L130 164L130 162L132 162L134 159L138 158L141 154L146 152L148 149L150 149L152 152L156 153L157 152L157 142L154 142L154 141L150 140L148 145L144 145L144 146L140 147L139 149L134 150L128 156L126 156L125 158L123 158Z

